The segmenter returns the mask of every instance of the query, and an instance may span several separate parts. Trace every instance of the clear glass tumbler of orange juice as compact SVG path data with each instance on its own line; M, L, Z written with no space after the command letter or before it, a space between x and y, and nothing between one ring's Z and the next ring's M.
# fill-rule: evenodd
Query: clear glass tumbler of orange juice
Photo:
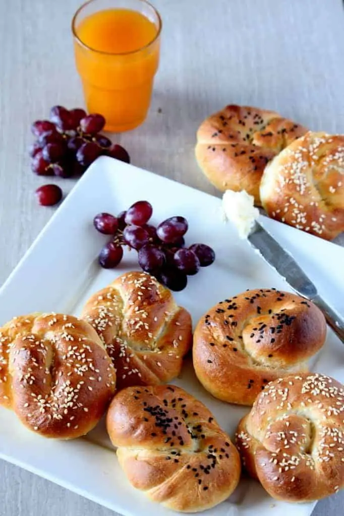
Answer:
M161 18L146 0L90 0L72 21L88 112L106 131L128 131L148 112L158 70Z

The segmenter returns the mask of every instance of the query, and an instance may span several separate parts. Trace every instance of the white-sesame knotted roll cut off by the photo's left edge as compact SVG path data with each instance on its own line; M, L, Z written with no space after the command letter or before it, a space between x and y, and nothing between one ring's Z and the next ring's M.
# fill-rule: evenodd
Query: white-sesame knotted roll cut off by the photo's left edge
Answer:
M89 432L115 384L110 357L85 321L30 314L0 329L0 404L44 437L73 439Z

